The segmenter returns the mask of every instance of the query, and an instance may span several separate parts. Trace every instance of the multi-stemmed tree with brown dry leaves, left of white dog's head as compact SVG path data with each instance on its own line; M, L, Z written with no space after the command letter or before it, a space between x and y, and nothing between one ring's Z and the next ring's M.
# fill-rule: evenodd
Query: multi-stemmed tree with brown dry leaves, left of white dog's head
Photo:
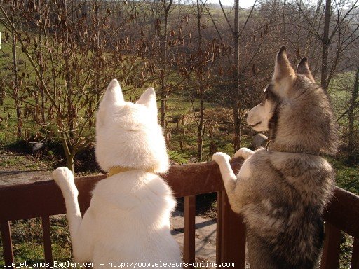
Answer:
M88 3L85 1L81 4ZM140 64L137 63L137 53L126 57L121 64L118 58L107 57L109 54L118 55L120 50L138 51L137 43L121 43L114 39L114 33L128 23L128 14L124 14L123 20L111 31L107 31L100 40L100 46L109 43L114 46L106 46L104 52L100 50L97 54L91 54L89 52L94 42L93 34L88 32L90 27L87 18L90 15L83 13L83 8L79 8L76 1L43 2L42 6L34 2L19 4L19 23L23 28L28 27L29 31L15 27L11 11L7 11L6 5L7 3L0 5L3 15L0 22L15 36L36 74L35 82L31 79L23 81L29 86L29 99L23 101L26 104L25 109L32 114L36 123L39 123L43 138L52 137L62 143L67 167L74 170L74 157L94 140L93 132L89 132L91 121L100 94L109 81L109 74L121 74L130 78L133 76L133 67ZM45 12L47 8L52 8L50 13L57 16L46 18L46 23L42 24L39 31L41 42L32 41L34 32L39 30L39 27L34 27L34 22L39 21L37 14L40 11ZM109 13L106 8L99 9L97 15L101 16L102 24L109 23ZM43 60L44 57L46 61ZM100 77L96 76L97 74L100 74ZM31 98L37 95L36 91L30 90L32 88L43 90L43 109L39 109L39 105L31 101ZM41 111L45 110L48 111L47 116L39 117Z

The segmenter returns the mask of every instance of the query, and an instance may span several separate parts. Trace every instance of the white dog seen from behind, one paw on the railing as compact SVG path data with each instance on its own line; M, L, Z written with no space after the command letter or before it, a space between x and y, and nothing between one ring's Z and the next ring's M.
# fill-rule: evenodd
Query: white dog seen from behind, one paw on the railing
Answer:
M147 89L136 104L125 102L114 79L97 113L96 158L109 178L93 190L83 218L74 176L66 167L53 172L65 198L67 219L76 261L91 261L94 268L136 262L177 263L181 256L170 234L170 214L176 202L170 187L156 172L168 170L168 156L157 123L156 95ZM163 266L170 268L170 266Z

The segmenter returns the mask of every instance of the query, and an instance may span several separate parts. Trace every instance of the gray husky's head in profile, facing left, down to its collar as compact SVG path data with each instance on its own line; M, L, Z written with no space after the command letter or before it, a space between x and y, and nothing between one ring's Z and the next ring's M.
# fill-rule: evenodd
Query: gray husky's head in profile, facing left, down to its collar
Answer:
M248 112L247 123L258 132L269 130L269 139L283 145L337 151L337 121L326 93L316 85L306 57L294 71L284 46L264 99Z

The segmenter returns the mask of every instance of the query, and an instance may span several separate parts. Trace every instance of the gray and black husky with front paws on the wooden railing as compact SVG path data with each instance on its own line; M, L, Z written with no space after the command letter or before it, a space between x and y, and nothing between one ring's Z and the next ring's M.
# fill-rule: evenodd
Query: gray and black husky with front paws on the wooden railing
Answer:
M321 215L332 196L334 171L323 153L337 152L337 123L330 101L316 85L306 58L294 71L285 47L262 103L248 112L254 130L269 131L266 148L240 149L235 175L225 153L221 170L234 212L247 225L251 268L315 268L323 244Z

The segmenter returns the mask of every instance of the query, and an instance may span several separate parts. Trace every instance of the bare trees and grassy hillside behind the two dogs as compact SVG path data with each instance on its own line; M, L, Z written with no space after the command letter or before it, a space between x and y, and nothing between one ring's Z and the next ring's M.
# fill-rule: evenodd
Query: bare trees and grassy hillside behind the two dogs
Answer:
M234 151L248 144L244 114L262 98L285 45L292 64L309 57L332 97L341 154L358 161L358 1L0 3L3 142L57 142L73 170L93 145L98 102L117 78L128 100L156 89L173 160Z

